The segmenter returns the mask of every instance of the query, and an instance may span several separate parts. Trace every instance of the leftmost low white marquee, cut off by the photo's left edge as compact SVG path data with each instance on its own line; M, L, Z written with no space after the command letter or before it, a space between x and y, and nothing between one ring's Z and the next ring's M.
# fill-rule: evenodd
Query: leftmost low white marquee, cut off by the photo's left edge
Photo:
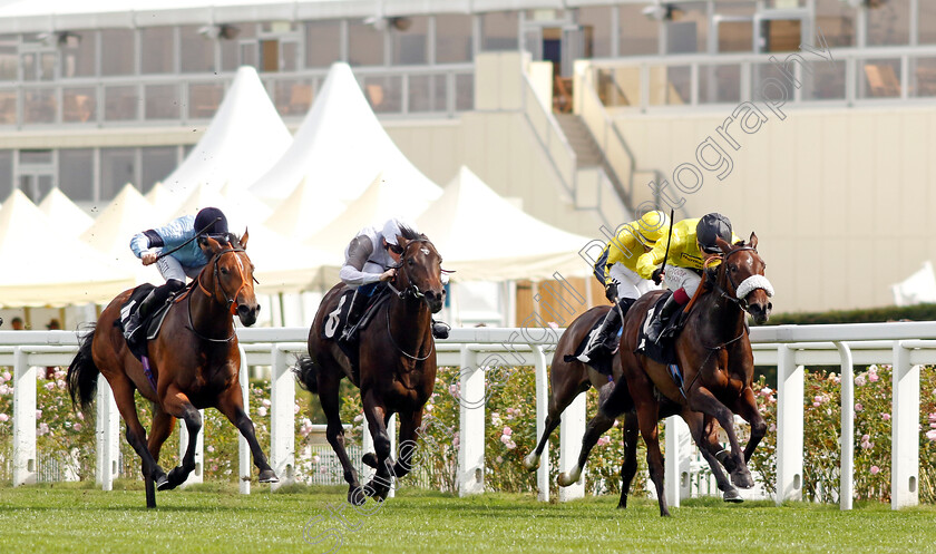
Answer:
M56 226L13 191L0 210L0 305L107 303L133 274Z

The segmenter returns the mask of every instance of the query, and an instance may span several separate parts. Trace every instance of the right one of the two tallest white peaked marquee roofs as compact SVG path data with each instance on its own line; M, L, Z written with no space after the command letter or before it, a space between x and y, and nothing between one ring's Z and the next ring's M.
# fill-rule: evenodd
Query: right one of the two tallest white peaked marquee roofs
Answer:
M320 202L347 204L383 171L401 182L435 185L383 130L351 68L338 62L329 70L292 146L251 185L251 192L264 201L280 202L304 179Z

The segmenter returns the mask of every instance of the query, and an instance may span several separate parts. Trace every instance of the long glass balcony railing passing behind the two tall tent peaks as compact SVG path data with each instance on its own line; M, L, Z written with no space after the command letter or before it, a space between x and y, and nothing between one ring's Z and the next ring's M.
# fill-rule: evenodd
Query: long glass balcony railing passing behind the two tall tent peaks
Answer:
M355 68L364 96L381 115L454 116L474 109L471 64ZM42 126L119 127L205 123L214 116L234 72L95 77L0 82L0 129ZM276 110L301 118L326 71L261 74Z

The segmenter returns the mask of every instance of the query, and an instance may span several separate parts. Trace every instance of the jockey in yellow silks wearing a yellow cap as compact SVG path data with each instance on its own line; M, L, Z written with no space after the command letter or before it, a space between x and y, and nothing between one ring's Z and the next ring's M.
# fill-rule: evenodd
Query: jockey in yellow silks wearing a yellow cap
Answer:
M622 315L643 293L654 288L647 278L637 274L637 260L669 233L670 217L653 211L637 221L621 225L614 239L605 245L595 263L595 276L605 286L607 299L617 302L621 310L613 308L607 312L598 332L592 336L578 356L581 361L588 362L598 349L614 350Z

